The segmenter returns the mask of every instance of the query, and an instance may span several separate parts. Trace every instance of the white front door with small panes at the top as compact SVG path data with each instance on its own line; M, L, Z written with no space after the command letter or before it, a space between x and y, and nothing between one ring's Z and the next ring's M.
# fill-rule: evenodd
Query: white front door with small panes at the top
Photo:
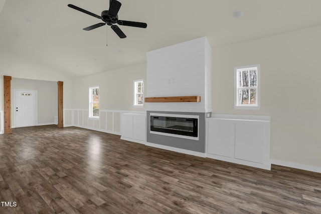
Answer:
M37 125L37 91L15 89L15 127Z

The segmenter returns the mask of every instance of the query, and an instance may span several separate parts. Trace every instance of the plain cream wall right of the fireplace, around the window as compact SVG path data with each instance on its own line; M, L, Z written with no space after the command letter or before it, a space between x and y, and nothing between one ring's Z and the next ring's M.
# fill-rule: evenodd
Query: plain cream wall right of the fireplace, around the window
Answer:
M213 113L271 116L277 163L321 167L320 38L318 26L212 48ZM253 64L261 65L261 109L234 110L233 68Z

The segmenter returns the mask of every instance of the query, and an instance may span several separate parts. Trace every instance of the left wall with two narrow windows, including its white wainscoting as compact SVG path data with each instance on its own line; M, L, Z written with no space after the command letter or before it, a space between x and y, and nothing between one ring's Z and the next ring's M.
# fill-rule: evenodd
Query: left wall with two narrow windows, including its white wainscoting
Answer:
M134 80L143 80L146 88L146 64L77 78L73 83L73 108L65 109L65 126L119 134L120 115L128 112L145 112L146 106L133 107ZM89 87L99 86L100 118L88 118ZM144 90L144 96L146 90Z

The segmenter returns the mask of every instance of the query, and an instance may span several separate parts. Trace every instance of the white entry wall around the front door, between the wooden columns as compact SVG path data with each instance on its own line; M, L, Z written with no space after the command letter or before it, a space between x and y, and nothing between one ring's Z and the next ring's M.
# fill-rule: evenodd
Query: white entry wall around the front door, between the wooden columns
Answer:
M38 101L38 125L54 124L55 116L58 116L58 88L57 82L44 80L28 80L12 78L11 80L11 124L15 127L14 90L36 90Z

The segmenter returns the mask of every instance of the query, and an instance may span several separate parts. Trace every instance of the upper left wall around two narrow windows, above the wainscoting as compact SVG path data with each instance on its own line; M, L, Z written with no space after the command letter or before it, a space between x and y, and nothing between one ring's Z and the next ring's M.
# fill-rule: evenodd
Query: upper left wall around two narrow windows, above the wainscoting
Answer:
M145 111L145 105L143 108L133 107L134 80L143 80L146 85L146 64L75 79L73 83L73 109L88 109L89 87L99 86L100 109ZM144 90L145 94L146 90Z

